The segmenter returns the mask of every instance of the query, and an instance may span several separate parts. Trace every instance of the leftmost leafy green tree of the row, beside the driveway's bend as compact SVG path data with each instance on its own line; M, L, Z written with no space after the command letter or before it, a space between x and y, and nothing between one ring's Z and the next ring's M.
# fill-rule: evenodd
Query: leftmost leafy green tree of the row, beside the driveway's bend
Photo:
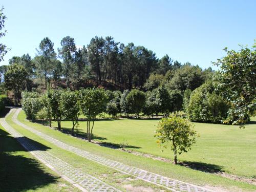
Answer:
M21 104L22 109L26 113L27 119L32 121L42 108L39 94L36 92L23 92Z

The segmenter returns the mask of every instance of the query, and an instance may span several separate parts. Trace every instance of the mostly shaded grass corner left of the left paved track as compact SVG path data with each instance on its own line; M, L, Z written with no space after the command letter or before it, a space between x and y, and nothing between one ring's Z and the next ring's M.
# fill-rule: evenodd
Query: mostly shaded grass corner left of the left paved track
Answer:
M1 191L79 191L40 163L0 125Z

